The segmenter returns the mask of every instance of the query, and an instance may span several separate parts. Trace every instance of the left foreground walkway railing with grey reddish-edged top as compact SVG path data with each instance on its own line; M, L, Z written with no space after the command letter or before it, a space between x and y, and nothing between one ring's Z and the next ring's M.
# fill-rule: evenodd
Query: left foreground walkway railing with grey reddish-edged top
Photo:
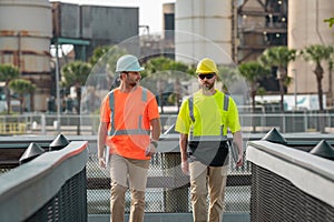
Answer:
M71 142L3 172L0 221L87 221L87 142Z

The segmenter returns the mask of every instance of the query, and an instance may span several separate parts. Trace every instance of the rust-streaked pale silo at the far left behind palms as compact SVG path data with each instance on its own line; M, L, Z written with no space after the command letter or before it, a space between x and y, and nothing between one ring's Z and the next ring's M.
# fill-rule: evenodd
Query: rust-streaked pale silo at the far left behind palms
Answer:
M19 67L37 85L32 108L46 110L50 95L51 3L48 0L0 0L0 63Z

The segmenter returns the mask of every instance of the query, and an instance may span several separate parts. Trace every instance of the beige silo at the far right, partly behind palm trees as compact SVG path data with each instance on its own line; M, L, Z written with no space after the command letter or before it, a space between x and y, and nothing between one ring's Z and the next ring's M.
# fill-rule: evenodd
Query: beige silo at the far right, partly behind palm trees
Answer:
M324 22L324 19L333 17L333 0L304 0L288 1L288 48L302 50L311 44L334 46L334 29ZM330 81L330 72L326 63L323 63L324 79L323 92L327 94L327 100L333 98L334 84ZM288 74L294 78L288 92L316 93L317 85L313 70L315 64L305 62L298 58L288 67ZM331 93L332 91L332 93ZM328 101L327 101L328 103ZM328 104L333 104L330 102Z

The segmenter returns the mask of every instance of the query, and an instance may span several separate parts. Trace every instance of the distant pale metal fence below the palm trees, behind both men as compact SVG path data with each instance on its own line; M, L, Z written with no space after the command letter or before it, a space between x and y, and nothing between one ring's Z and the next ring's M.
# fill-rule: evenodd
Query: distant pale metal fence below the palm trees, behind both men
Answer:
M161 114L163 132L175 123L176 114ZM334 113L239 113L244 132L268 132L276 128L281 132L334 132ZM58 122L60 120L60 122ZM321 129L323 121L323 129ZM0 134L73 134L95 135L99 124L98 114L26 113L22 115L0 115ZM59 128L57 128L59 127Z

